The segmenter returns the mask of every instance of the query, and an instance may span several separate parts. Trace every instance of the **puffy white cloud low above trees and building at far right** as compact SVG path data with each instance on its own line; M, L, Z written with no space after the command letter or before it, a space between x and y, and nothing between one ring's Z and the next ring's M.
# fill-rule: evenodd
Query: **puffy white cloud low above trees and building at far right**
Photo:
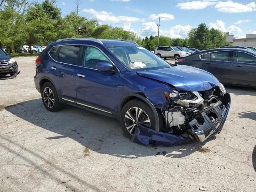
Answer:
M219 29L222 32L229 32L230 35L234 35L236 38L245 38L241 28L234 25L230 25L228 28L226 28L225 23L222 20L216 20L215 23L210 23L209 26L210 28Z

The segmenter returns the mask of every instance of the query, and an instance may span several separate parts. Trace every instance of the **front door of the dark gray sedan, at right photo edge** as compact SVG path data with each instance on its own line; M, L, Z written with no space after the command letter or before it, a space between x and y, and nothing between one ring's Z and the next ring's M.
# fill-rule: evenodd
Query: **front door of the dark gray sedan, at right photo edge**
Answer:
M233 52L230 83L256 86L256 56L242 51Z

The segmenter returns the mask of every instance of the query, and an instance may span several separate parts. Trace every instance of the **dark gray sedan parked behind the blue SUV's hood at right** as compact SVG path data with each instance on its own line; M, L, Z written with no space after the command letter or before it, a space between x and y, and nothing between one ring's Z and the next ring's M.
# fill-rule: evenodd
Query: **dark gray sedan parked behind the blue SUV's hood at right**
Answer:
M222 83L256 86L256 53L247 49L212 49L176 61L206 70Z

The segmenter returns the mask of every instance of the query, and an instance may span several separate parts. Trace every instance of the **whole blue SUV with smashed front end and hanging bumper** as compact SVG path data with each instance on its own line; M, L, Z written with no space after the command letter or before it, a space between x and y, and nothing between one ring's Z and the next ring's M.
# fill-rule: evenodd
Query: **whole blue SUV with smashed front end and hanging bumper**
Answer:
M230 95L209 72L172 66L130 40L60 39L36 59L36 89L45 108L63 104L120 120L128 138L142 129L168 134L172 144L204 141L219 133Z

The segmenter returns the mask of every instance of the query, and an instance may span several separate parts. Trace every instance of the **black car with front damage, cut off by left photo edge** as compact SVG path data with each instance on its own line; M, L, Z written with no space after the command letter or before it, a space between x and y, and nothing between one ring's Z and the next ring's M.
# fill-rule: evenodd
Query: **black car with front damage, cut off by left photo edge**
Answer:
M0 48L0 76L14 76L18 73L17 62Z

